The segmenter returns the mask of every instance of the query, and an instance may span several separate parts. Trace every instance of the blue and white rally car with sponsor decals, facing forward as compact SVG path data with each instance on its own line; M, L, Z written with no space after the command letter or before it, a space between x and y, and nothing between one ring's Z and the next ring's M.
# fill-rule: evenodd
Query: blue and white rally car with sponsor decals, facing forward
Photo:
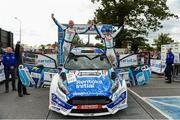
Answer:
M127 107L127 86L98 48L73 48L53 77L49 109L71 116L115 114Z

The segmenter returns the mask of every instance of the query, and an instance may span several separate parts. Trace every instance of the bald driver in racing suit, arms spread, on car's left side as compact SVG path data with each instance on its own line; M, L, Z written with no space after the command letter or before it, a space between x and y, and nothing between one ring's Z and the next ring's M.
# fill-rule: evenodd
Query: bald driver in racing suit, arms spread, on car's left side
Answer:
M55 22L55 24L60 27L61 29L63 29L64 31L64 58L66 60L70 50L71 50L71 47L72 47L72 42L73 42L73 39L74 37L77 35L77 34L84 34L86 33L92 25L90 25L87 29L85 30L82 30L82 31L77 31L75 28L74 28L74 22L72 20L69 20L69 24L68 26L64 26L62 24L60 24L54 17L54 14L51 15L51 18L53 19L53 21Z

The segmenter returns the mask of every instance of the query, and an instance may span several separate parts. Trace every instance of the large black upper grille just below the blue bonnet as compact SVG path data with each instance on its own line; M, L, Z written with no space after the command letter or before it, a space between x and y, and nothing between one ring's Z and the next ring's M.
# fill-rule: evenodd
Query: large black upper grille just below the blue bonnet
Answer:
M71 105L106 105L112 100L104 96L73 97L68 101Z

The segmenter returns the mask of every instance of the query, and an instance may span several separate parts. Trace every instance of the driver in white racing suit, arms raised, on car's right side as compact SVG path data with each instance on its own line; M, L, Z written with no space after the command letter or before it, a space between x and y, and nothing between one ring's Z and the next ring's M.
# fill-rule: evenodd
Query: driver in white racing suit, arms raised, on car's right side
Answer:
M105 43L105 48L106 48L106 56L108 57L110 63L112 66L116 67L117 66L117 58L116 58L116 54L115 54L115 50L114 50L114 41L113 39L116 37L116 35L122 31L123 27L119 27L119 29L115 32L115 33L111 33L110 30L108 28L106 28L106 32L103 34L101 32L101 27L98 27L96 25L94 25L95 30L97 31L97 33L99 34L99 36L101 37L101 39L104 40Z

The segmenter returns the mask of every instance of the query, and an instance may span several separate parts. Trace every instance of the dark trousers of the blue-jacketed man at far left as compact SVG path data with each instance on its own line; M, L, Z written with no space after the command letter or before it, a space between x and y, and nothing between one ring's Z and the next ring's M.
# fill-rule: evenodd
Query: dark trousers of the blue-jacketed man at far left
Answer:
M12 89L16 89L16 81L15 81L15 69L4 69L4 73L5 73L5 89L9 90L9 76L11 75L11 79L12 79Z

